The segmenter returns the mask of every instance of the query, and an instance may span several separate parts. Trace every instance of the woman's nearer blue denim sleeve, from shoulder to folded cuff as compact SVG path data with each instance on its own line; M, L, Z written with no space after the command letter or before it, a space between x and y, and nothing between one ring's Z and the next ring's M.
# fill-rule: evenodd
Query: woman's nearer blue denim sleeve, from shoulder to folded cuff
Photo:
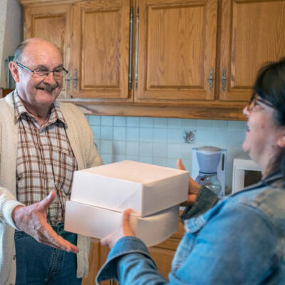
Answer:
M145 244L135 237L115 244L97 281L116 279L120 285L262 284L277 270L276 236L276 229L259 209L229 203L217 207L201 229L187 229L182 239L185 259L172 269L169 283L157 271Z

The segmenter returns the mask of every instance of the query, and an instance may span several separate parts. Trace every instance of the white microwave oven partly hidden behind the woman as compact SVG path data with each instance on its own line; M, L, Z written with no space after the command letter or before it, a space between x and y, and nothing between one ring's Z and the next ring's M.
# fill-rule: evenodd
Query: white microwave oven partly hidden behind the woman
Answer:
M234 158L232 170L232 193L243 190L261 180L261 170L257 162L247 154Z

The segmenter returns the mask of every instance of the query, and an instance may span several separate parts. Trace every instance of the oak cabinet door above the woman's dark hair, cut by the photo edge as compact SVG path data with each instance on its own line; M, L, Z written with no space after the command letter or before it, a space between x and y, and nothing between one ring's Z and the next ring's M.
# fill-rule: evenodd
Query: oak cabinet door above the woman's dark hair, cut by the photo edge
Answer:
M284 0L222 0L221 100L249 100L259 68L285 56L284 15Z

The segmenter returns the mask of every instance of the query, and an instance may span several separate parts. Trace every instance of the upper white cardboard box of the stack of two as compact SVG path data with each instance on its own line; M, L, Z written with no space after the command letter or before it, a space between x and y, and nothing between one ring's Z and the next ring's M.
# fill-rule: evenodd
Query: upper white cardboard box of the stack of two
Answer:
M71 201L145 217L187 200L189 172L124 160L74 172Z

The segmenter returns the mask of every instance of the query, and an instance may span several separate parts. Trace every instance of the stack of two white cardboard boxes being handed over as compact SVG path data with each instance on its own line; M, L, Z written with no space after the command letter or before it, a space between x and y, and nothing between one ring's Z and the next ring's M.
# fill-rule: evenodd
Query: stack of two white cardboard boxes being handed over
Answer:
M179 204L187 199L189 172L124 160L74 172L65 229L101 239L135 212L130 225L150 247L178 229Z

